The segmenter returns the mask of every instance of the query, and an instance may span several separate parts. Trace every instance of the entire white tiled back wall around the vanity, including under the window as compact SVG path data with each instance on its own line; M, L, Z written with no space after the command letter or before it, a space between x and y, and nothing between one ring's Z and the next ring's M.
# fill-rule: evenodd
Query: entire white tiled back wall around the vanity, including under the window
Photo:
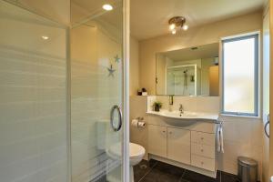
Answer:
M153 96L152 99L155 96ZM168 109L168 96L157 96L156 100L163 102L163 108ZM177 110L183 104L186 111L219 112L218 96L175 96L173 109ZM147 96L130 97L130 118L143 116L147 120ZM217 154L219 170L237 174L237 158L252 157L258 161L258 174L261 174L262 132L263 126L259 118L220 116L224 121L224 154ZM131 126L131 141L147 148L147 129L137 129Z

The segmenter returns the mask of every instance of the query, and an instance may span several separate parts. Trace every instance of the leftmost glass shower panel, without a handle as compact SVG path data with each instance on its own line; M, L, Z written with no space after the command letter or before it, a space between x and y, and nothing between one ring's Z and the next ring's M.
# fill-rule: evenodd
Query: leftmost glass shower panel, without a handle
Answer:
M0 181L66 182L66 26L0 0Z

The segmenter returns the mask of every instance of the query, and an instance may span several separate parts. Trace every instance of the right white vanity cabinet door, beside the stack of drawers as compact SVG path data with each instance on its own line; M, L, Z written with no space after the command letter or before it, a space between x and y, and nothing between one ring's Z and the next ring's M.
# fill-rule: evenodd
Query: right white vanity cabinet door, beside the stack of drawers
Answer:
M167 158L190 164L190 131L167 127Z

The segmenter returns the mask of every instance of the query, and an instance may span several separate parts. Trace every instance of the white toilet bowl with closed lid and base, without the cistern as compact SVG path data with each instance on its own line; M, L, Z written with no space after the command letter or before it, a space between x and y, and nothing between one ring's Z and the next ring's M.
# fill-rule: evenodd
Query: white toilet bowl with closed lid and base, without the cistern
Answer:
M120 158L120 143L109 147L106 153L109 157ZM145 155L145 148L134 143L129 144L130 152L130 182L134 182L134 166L136 166Z

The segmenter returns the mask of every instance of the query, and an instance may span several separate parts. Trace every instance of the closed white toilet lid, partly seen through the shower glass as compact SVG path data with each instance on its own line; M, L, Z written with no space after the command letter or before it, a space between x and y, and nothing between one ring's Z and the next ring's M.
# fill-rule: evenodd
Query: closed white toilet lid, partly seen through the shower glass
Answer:
M109 147L108 152L116 157L121 157L121 143ZM141 157L145 154L145 148L134 143L129 144L130 157Z

